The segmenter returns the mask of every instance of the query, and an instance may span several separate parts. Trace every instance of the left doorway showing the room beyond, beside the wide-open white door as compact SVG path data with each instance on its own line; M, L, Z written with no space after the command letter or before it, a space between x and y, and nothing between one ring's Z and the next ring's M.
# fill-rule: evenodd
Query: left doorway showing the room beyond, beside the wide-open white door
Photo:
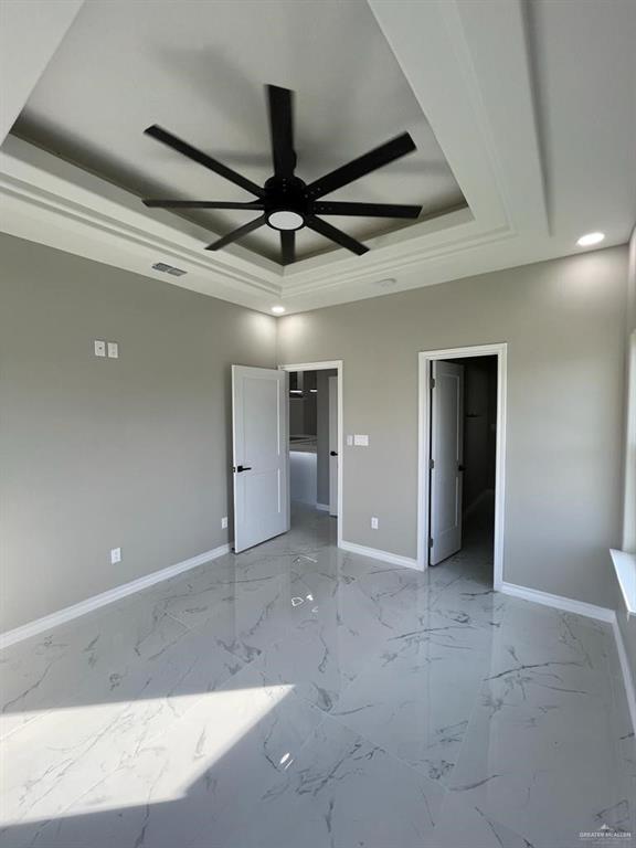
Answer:
M289 374L290 526L315 526L340 543L342 370L340 362L280 365Z

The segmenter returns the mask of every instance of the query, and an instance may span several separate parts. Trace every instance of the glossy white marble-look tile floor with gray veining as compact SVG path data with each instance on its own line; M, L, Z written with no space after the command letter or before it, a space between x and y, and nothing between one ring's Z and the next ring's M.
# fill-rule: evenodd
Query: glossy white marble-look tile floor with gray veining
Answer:
M470 528L427 574L333 536L296 510L285 537L4 651L3 848L570 848L636 831L607 626L495 594Z

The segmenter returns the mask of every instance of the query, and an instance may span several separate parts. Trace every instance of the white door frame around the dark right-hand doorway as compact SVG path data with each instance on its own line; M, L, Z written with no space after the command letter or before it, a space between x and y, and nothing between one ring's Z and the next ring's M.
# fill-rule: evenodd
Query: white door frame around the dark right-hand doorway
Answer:
M428 568L427 542L430 537L430 477L431 460L431 368L435 359L465 359L466 357L497 357L497 449L495 459L495 589L504 583L504 520L506 484L506 371L508 344L475 344L447 350L425 350L418 354L420 414L417 423L417 566Z

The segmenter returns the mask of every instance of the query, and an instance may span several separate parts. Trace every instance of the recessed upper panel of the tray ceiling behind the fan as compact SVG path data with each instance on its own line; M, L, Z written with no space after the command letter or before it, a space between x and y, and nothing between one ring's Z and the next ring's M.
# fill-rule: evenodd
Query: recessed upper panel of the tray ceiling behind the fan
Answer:
M159 124L262 186L272 176L266 83L296 92L297 173L307 182L412 134L414 153L331 199L421 203L423 214L464 203L365 0L92 0L13 131L142 197L252 200L144 129ZM254 216L190 213L221 234ZM405 223L328 220L359 239ZM279 256L278 234L268 227L242 244ZM298 234L299 257L333 248L310 230Z

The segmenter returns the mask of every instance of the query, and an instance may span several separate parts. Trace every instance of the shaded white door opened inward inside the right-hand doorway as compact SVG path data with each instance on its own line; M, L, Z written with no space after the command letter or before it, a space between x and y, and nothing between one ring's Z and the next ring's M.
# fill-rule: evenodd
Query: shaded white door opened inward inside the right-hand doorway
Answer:
M464 365L434 360L431 390L431 542L436 565L462 548Z

